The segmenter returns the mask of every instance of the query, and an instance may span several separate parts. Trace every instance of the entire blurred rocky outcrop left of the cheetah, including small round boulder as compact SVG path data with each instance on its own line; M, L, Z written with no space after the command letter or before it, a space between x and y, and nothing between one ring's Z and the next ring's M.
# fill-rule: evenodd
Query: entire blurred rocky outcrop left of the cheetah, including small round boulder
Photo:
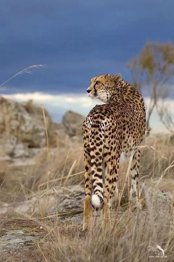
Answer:
M48 111L44 109L43 114L42 107L32 100L19 103L0 97L0 157L31 157L29 148L47 146L44 121L49 147L81 142L84 119L73 111L67 111L62 123L54 123Z

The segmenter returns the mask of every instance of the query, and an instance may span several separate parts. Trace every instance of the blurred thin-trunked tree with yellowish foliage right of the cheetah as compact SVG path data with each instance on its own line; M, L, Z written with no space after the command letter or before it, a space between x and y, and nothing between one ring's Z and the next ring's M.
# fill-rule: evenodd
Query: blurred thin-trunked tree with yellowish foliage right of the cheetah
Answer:
M164 44L147 42L141 53L128 63L131 70L132 82L138 91L146 86L150 94L150 104L147 110L147 131L150 128L150 119L155 108L161 122L168 128L172 124L172 116L165 110L159 109L159 99L165 100L168 90L165 83L174 75L174 46L171 42ZM165 115L165 120L164 120Z

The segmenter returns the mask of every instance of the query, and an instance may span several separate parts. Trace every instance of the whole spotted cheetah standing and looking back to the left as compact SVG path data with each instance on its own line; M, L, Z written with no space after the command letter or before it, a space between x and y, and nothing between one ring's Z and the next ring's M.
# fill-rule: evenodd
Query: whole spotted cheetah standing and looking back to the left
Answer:
M102 74L91 79L88 96L105 104L96 105L82 127L85 159L85 203L83 230L91 227L93 209L101 210L102 226L110 225L110 206L118 192L121 153L133 154L131 162L131 207L139 206L140 151L146 125L144 101L121 74ZM92 193L93 191L93 193ZM93 209L92 209L93 208Z

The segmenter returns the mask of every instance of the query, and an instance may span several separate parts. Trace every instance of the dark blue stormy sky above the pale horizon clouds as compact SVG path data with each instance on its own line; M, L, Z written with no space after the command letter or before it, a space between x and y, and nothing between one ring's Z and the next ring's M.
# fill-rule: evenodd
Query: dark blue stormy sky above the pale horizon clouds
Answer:
M173 0L2 0L0 82L33 64L2 94L85 94L92 76L120 72L146 41L174 42ZM47 102L45 102L47 103ZM55 120L62 112L47 105ZM77 108L80 111L80 108Z

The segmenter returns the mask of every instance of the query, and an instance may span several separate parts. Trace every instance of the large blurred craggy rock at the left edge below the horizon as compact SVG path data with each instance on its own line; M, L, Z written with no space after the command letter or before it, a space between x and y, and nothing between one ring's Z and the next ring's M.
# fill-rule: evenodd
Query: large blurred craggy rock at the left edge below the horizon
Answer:
M56 128L44 109L50 146L56 146ZM0 97L0 144L6 154L27 156L26 148L46 146L44 116L41 107L27 101L19 103Z

